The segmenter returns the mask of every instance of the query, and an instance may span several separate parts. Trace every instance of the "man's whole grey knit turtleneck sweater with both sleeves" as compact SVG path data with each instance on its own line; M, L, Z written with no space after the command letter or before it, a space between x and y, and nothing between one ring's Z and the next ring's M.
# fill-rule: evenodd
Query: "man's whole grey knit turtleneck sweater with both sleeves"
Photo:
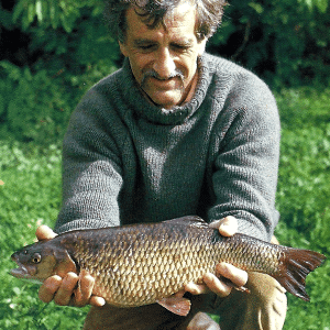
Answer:
M208 54L190 102L172 110L139 91L129 62L94 86L65 140L56 232L232 215L270 240L278 221L276 103L242 67Z

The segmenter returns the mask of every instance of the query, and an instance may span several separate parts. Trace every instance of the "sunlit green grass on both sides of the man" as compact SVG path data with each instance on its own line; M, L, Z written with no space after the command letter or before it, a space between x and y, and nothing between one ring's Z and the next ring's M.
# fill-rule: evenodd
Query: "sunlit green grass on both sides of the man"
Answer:
M296 89L276 96L282 117L277 208L282 244L330 255L330 90ZM54 226L61 204L56 145L0 141L0 329L80 329L88 308L58 307L37 298L37 286L9 275L10 255ZM311 301L288 295L284 329L330 329L330 266L307 279Z

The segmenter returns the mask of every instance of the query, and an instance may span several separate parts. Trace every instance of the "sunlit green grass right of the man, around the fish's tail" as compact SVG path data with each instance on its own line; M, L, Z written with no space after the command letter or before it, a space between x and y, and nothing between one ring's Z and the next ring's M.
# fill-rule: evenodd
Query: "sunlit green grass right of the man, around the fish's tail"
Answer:
M282 244L330 255L330 90L288 90L277 97L282 156L276 234ZM288 295L285 330L330 329L329 262L307 277L311 300Z

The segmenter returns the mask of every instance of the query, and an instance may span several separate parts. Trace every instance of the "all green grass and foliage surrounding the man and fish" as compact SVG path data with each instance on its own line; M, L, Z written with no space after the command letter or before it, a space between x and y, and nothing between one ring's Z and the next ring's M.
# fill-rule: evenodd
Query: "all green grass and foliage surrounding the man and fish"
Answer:
M330 255L328 0L232 0L208 51L265 79L282 117L276 234ZM0 7L0 329L79 329L87 308L37 299L10 255L54 226L61 141L82 94L121 64L101 0L2 0ZM289 298L286 330L330 329L329 263L308 277L311 302Z

